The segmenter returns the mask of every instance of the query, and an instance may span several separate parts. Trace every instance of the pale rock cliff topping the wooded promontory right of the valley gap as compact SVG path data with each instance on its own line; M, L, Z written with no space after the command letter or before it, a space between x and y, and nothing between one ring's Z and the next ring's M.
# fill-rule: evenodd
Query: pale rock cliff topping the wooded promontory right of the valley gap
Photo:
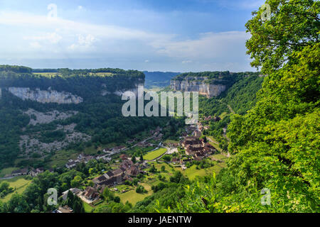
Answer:
M193 77L184 80L171 80L171 89L181 92L199 92L201 95L208 97L218 96L227 88L225 84L218 84L217 79L215 84L206 83L206 77Z

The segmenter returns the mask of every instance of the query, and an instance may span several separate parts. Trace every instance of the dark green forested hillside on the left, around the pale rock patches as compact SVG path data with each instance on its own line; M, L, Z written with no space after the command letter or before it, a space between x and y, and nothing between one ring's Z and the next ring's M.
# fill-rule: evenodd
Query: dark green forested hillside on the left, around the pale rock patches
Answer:
M144 82L142 72L118 69L47 71L32 70L28 67L0 66L0 169L9 166L43 166L55 154L48 149L37 147L31 151L19 148L21 135L32 135L31 138L39 139L40 142L52 143L55 140L63 140L68 134L62 131L57 133L58 126L70 126L75 123L74 130L89 135L91 140L78 140L76 143L70 143L67 149L81 152L92 145L97 147L111 142L123 143L135 133L156 127L165 121L164 118L128 119L122 116L124 101L112 92L136 89L137 84ZM30 99L22 100L11 94L8 87L28 87L31 90L43 91L48 91L50 88L57 92L70 92L81 96L83 101L80 104L43 104ZM104 91L107 92L102 95ZM76 111L77 114L68 118L57 118L50 123L31 125L31 118L36 117L28 116L26 114L28 109L44 116L50 111L59 111L60 114ZM37 132L41 132L41 135L36 135ZM19 161L15 162L17 158Z

